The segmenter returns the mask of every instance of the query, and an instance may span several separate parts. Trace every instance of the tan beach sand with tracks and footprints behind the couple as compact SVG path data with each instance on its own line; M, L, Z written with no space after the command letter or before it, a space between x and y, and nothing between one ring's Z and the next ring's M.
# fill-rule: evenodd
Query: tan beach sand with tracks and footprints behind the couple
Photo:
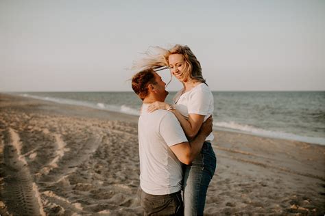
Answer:
M1 215L141 215L137 117L0 94ZM324 215L325 146L215 131L205 215Z

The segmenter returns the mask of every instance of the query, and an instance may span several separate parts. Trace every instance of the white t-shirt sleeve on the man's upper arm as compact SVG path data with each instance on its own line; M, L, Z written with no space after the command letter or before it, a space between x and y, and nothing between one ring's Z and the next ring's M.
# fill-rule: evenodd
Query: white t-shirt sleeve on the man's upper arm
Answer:
M160 121L159 132L168 146L173 146L187 141L186 135L173 113L166 113Z

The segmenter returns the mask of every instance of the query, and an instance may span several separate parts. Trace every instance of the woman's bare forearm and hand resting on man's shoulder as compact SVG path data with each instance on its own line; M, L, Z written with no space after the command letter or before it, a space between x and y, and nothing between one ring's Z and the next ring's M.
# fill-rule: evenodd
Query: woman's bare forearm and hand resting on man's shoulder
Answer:
M156 109L169 109L170 107L171 105L167 103L155 102L148 107L148 111L152 112ZM169 111L171 111L180 122L180 125L182 126L186 137L188 137L189 139L193 139L199 132L200 127L202 126L204 116L199 114L189 114L189 120L187 120L177 109L169 109Z

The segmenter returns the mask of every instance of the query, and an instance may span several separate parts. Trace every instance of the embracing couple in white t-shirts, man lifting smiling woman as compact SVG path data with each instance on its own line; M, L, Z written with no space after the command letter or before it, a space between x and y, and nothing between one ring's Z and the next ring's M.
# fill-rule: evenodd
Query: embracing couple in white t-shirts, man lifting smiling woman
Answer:
M210 143L213 95L188 46L158 50L143 59L138 66L143 70L132 77L132 89L143 100L139 199L145 215L203 215L217 163ZM165 103L166 83L156 72L163 66L183 84L173 105Z

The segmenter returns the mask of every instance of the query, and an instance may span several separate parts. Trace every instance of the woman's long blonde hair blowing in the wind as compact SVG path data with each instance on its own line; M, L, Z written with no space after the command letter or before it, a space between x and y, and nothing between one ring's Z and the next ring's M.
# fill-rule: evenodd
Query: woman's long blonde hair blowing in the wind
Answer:
M182 80L195 79L205 83L202 76L202 68L200 62L197 60L189 46L176 44L171 49L163 49L160 46L150 46L145 57L138 62L134 62L134 69L146 70L149 68L156 69L163 66L169 66L168 58L172 54L180 54L184 57L186 67L182 74Z

